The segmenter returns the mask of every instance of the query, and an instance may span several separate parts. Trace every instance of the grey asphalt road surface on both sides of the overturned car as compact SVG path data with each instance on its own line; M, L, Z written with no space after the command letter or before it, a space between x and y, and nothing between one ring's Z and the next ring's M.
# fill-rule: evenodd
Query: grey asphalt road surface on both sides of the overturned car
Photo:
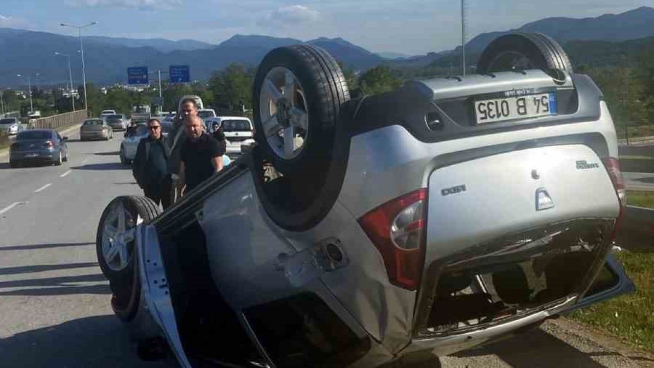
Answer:
M104 206L140 194L112 141L71 137L63 166L10 169L0 156L0 366L173 367L145 363L95 257ZM518 339L441 358L428 367L647 367L651 358L548 322ZM590 336L590 337L589 337ZM631 357L631 358L628 358ZM422 366L424 368L424 365Z

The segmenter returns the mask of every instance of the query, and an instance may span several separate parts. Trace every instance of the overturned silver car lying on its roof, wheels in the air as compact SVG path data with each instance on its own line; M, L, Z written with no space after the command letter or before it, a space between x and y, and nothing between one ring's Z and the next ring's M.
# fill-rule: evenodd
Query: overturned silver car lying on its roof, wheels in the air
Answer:
M350 100L322 48L269 52L250 153L163 213L105 208L116 316L181 367L378 367L632 291L602 92L541 34L477 65Z

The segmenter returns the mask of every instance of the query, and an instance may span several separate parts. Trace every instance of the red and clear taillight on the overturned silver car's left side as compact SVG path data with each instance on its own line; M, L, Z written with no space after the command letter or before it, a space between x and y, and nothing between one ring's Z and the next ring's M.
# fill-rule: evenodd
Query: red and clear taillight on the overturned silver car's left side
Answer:
M359 225L379 249L388 279L394 285L415 290L424 263L427 189L405 194L375 208L359 219Z

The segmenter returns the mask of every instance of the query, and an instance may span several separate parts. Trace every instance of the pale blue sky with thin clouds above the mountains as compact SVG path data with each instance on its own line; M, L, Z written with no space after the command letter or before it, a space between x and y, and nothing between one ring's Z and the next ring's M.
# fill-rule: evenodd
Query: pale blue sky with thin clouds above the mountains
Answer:
M374 52L425 54L460 43L459 0L2 0L0 27L220 43L261 34L306 41L343 37ZM468 39L549 16L619 13L654 0L468 0Z

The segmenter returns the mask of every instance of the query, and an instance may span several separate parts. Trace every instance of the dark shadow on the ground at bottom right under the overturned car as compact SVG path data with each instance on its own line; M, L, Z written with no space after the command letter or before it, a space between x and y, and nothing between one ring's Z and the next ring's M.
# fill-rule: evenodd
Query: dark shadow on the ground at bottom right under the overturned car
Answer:
M577 367L603 368L593 356L622 357L617 352L581 352L542 329L525 332L518 337L466 350L456 357L496 355L513 368Z

